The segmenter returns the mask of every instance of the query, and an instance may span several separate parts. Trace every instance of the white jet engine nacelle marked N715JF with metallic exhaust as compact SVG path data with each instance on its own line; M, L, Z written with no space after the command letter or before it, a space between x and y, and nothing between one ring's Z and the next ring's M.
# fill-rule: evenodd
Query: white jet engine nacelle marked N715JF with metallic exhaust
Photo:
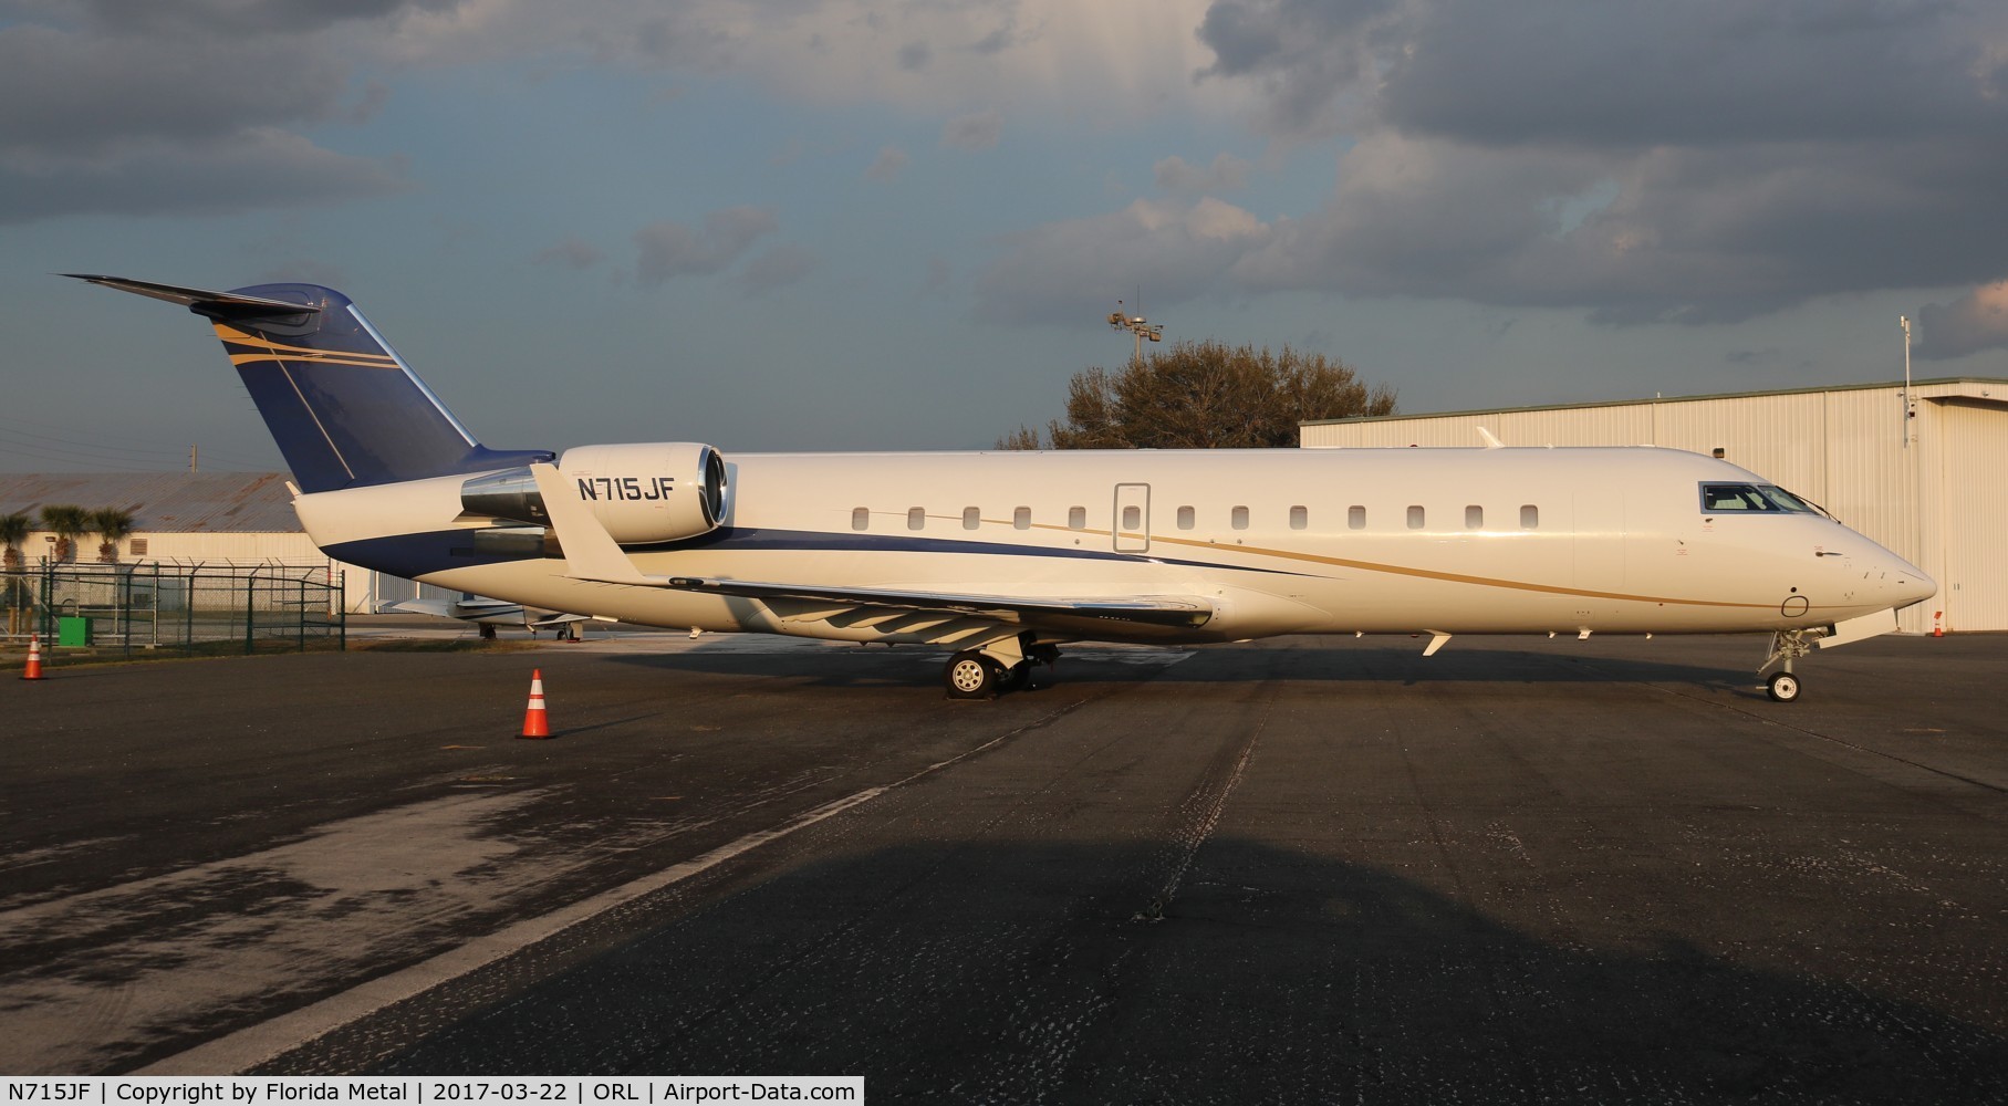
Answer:
M697 538L731 512L725 458L695 442L580 446L558 458L558 476L622 544ZM468 480L460 486L460 506L468 514L550 526L528 468Z

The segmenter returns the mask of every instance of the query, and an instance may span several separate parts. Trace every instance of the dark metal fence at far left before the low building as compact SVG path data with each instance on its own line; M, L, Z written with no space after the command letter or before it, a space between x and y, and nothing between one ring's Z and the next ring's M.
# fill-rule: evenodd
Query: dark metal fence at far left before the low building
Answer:
M40 564L0 574L14 646L96 656L345 648L341 572L279 564Z

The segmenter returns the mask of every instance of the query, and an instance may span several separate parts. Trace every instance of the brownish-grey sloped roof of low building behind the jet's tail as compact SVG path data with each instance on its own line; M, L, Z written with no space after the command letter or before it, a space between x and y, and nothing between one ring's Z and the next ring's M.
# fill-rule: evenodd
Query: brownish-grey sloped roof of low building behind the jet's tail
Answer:
M299 534L283 472L0 472L0 514L124 508L137 534Z

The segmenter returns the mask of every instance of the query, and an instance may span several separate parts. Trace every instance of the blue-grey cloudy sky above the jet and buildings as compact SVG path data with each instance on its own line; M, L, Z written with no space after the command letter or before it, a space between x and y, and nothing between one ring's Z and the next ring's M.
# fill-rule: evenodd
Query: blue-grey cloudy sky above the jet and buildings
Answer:
M2008 4L0 0L0 468L279 468L343 289L498 448L984 448L1167 339L1402 409L2008 377Z

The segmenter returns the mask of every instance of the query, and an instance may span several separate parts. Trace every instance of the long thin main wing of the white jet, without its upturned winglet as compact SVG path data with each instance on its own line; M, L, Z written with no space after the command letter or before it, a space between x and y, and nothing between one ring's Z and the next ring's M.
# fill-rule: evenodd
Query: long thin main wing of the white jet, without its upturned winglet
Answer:
M837 606L877 606L890 610L948 610L1000 622L1100 620L1145 626L1205 626L1213 604L1195 596L986 596L966 592L918 592L904 588L835 588L825 584L769 584L711 576L669 576L659 586L685 592L741 596L757 600L805 600Z

